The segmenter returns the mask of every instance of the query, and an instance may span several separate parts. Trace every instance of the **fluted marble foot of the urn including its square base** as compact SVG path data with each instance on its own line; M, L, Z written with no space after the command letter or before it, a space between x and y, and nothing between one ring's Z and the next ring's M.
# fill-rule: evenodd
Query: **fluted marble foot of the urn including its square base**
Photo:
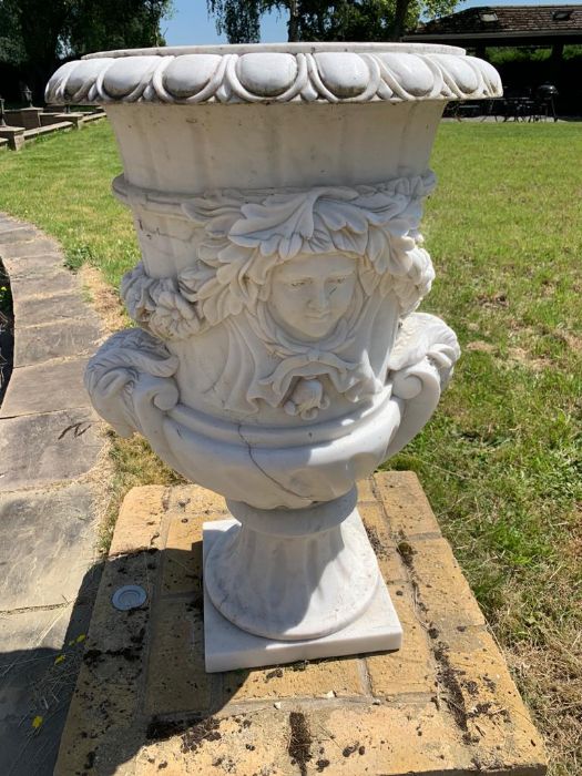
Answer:
M355 489L300 510L228 507L241 522L204 525L207 671L399 647Z

